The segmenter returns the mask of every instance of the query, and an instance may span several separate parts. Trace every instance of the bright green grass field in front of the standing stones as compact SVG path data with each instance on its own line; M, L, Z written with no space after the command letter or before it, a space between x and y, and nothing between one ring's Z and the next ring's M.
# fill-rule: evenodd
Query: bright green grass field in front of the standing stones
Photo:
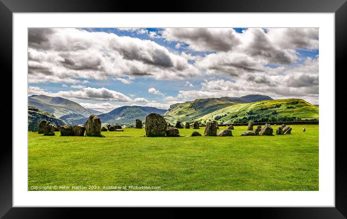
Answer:
M276 136L240 136L246 127L236 126L233 137L148 138L144 129L102 132L104 138L29 132L28 190L318 190L318 125L290 126L291 135ZM179 131L203 134L204 128Z

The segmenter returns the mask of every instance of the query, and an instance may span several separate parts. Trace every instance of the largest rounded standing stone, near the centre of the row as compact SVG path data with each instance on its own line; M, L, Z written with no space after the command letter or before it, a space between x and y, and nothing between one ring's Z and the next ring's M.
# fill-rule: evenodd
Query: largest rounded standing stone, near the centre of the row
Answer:
M145 131L147 137L165 137L167 123L164 117L157 113L150 113L146 117Z

